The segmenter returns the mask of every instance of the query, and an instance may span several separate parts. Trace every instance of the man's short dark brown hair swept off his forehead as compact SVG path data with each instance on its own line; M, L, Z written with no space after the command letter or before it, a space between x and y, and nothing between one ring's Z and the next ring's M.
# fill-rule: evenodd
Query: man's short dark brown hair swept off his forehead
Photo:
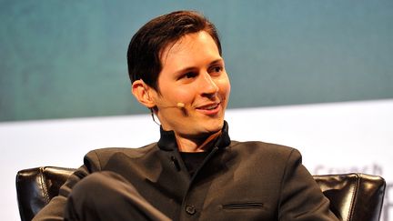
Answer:
M206 31L212 36L221 55L221 43L216 26L197 12L176 11L158 16L143 25L132 37L128 46L127 64L131 83L142 79L159 92L157 79L162 70L160 59L162 51L184 35L200 31Z

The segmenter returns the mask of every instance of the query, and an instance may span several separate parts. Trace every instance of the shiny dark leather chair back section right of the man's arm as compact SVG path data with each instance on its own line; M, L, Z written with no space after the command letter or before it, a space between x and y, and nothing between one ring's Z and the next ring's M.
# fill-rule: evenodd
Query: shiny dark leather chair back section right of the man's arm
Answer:
M386 182L380 176L365 174L314 176L330 210L345 221L378 221Z

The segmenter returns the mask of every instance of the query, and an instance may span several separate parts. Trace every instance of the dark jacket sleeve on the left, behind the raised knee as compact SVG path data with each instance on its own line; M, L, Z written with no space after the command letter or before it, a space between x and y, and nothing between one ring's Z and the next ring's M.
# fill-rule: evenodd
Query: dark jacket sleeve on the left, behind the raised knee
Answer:
M60 187L59 195L52 198L52 200L47 204L42 210L38 212L38 214L33 218L33 221L38 220L63 220L64 209L66 200L71 193L73 187L83 179L85 176L100 170L100 165L98 161L98 157L96 156L95 151L89 152L85 156L85 164L80 166L76 172L74 172L68 179L65 181L65 184Z

